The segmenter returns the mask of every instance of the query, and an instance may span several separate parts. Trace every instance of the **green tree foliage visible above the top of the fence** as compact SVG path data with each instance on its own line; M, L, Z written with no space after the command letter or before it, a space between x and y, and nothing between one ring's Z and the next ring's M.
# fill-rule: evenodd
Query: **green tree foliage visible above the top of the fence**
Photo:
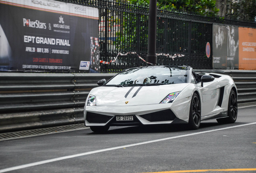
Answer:
M149 6L149 0L124 0L137 6ZM227 9L231 7L227 16L233 19L255 22L256 0L229 0ZM157 0L157 7L161 10L183 11L201 16L217 16L216 0ZM221 16L223 17L223 16Z

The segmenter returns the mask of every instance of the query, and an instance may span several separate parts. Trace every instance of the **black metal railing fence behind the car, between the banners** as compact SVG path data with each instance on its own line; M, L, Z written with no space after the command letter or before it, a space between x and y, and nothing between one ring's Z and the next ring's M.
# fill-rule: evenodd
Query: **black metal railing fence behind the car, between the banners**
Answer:
M146 65L149 8L127 4L124 0L60 0L99 9L101 72L120 72ZM158 64L190 65L212 69L212 54L206 57L206 43L212 43L212 24L256 28L256 23L206 17L188 12L157 10ZM211 49L212 50L212 49ZM126 54L122 56L118 53ZM169 54L171 56L164 56ZM175 54L183 54L178 57ZM117 57L117 58L116 58ZM175 57L175 58L174 58Z

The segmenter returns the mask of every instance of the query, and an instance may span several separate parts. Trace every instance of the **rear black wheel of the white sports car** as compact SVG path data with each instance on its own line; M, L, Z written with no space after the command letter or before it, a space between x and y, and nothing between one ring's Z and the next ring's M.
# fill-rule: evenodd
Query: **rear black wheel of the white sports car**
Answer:
M217 122L220 124L235 123L237 119L237 95L233 89L229 94L227 116L226 118L217 119Z

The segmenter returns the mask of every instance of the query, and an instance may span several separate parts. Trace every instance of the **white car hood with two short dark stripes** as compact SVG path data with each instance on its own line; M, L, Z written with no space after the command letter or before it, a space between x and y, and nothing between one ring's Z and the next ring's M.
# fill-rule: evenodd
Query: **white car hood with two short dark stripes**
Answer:
M182 91L188 83L159 86L97 87L90 94L97 106L134 106L159 104L170 93ZM178 97L177 97L178 99Z

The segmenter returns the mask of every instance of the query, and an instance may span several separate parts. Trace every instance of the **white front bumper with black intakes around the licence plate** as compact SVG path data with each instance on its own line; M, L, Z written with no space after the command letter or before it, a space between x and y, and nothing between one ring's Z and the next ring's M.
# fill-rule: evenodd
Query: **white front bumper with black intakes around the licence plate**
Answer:
M85 106L86 126L132 126L188 122L188 101L138 106ZM175 111L174 111L175 110ZM133 116L133 121L116 121L116 116Z

